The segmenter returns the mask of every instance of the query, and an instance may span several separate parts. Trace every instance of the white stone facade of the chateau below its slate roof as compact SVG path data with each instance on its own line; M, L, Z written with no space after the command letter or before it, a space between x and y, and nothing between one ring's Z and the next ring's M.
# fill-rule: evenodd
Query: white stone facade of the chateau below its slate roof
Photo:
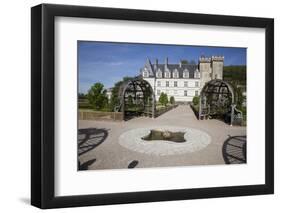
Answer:
M199 78L198 79L160 78L156 80L154 80L154 78L144 78L144 80L150 83L151 87L154 90L157 101L160 97L161 92L166 93L169 98L171 96L174 96L175 101L180 101L180 102L192 101L196 93L198 95L200 94L201 82ZM175 81L177 82L177 86L175 86L174 84ZM166 82L169 82L169 87L166 86Z

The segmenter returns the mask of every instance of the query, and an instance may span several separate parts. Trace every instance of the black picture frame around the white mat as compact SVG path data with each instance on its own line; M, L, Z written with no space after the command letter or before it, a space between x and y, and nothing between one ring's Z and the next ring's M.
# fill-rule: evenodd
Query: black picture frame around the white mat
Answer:
M264 28L266 32L265 184L56 197L54 195L54 21L58 16ZM274 193L274 20L53 4L32 7L31 114L31 204L39 208L272 194Z

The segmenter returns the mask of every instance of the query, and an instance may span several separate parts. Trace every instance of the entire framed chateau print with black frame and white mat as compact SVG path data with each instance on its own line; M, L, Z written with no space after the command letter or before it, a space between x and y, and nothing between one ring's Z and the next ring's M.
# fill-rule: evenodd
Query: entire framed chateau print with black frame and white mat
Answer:
M272 194L274 20L31 9L31 203Z

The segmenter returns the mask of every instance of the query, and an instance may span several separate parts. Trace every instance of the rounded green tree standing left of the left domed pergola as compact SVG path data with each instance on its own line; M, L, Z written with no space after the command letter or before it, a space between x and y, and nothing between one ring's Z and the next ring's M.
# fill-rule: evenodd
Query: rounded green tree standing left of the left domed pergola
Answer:
M103 87L102 83L95 83L88 91L88 100L95 110L101 110L108 104L106 90Z

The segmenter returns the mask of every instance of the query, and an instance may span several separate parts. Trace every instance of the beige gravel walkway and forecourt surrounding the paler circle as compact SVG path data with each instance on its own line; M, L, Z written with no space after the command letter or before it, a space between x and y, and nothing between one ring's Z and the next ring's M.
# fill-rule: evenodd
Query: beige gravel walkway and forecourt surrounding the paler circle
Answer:
M155 126L195 128L211 136L204 149L180 155L153 156L134 152L118 143L131 129ZM80 169L121 169L160 166L225 164L223 144L230 136L246 135L246 127L229 126L219 120L198 121L190 106L182 105L158 118L138 117L129 121L79 121Z

